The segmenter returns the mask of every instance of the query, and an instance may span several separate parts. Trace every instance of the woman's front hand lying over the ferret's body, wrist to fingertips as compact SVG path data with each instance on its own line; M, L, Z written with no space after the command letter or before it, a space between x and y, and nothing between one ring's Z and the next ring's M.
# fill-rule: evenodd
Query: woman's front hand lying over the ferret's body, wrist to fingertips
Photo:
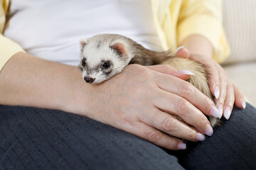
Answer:
M182 77L188 79L188 75L166 65L131 64L112 79L92 85L90 93L81 91L80 98L90 96L90 103L79 100L80 106L87 108L81 108L80 114L87 111L86 116L94 120L161 147L185 149L180 138L198 141L205 139L203 134L213 134L203 113L211 116L218 110L213 101Z

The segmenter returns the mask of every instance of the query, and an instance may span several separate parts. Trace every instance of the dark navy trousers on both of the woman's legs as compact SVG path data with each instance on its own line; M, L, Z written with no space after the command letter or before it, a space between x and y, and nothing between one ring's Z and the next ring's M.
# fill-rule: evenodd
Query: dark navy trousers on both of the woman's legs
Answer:
M248 103L177 152L80 115L0 106L0 169L256 169L255 142Z

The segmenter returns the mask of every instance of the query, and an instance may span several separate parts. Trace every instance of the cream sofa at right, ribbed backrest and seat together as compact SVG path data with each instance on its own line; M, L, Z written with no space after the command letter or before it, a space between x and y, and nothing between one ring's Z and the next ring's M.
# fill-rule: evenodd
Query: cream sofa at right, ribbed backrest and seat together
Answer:
M223 68L256 106L256 1L223 0L223 26L231 51Z

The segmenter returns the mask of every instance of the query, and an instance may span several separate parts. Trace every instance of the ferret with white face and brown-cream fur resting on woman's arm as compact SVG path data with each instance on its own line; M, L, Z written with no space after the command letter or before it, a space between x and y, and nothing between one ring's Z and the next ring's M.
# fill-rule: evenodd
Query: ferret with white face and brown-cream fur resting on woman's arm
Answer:
M100 34L89 39L81 39L80 48L82 55L79 68L82 79L87 83L100 84L122 72L128 64L144 66L169 64L176 69L193 72L195 75L187 81L213 100L208 86L209 74L206 67L193 60L174 57L171 55L171 50L164 52L147 50L134 40L117 34ZM208 119L212 127L219 124L217 118L208 117Z

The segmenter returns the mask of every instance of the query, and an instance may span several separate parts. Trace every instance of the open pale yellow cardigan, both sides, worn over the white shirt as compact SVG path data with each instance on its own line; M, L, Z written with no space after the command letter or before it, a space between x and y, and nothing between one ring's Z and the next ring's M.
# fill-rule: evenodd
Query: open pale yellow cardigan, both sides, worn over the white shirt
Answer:
M16 54L24 51L2 33L10 0L0 0L0 71ZM223 62L229 55L222 26L221 0L151 0L154 21L164 50L177 46L189 35L202 35L213 46L213 59ZM21 30L22 31L22 30Z

